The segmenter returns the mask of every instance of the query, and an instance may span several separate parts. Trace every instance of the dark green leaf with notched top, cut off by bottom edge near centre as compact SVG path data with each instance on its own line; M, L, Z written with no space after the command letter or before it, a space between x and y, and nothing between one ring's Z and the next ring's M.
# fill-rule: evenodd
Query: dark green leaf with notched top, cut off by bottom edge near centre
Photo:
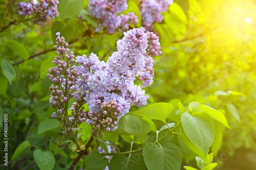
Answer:
M110 161L110 170L140 170L145 169L143 155L141 153L135 154L131 157L126 157L122 154L116 154Z

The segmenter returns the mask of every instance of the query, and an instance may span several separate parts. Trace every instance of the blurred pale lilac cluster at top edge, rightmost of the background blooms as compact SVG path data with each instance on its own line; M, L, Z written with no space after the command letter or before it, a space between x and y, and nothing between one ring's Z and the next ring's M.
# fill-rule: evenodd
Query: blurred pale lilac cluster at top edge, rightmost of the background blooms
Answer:
M140 3L142 25L146 30L152 31L153 23L163 20L161 12L166 11L173 4L173 0L140 0Z

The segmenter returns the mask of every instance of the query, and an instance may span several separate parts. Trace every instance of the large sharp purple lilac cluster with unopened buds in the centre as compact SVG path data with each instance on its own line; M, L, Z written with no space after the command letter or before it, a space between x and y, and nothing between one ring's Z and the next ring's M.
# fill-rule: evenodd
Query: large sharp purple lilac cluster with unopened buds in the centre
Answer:
M129 112L132 105L145 106L148 96L143 87L151 85L154 78L152 55L161 54L158 37L152 32L145 33L143 27L124 33L117 41L117 52L106 61L99 61L95 54L77 56L69 52L63 37L56 38L56 54L50 68L49 79L58 84L50 87L50 104L57 109L52 117L61 118L62 128L73 133L68 127L79 127L86 122L93 127L96 136L106 131L115 131L121 116ZM78 66L70 66L76 61ZM135 85L135 81L142 86ZM67 101L75 98L71 108L72 117L67 118ZM87 103L89 111L84 112ZM66 104L66 105L65 105ZM66 107L65 107L66 106ZM66 116L65 116L66 114ZM64 117L62 116L64 115ZM67 132L64 132L67 134Z

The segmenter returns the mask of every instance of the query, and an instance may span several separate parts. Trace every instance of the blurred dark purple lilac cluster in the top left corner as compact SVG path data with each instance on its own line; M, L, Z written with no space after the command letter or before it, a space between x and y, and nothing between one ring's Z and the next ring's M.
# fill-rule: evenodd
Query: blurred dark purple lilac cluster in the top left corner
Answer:
M49 21L49 17L54 19L58 14L57 4L58 0L41 0L34 4L32 0L28 3L25 1L17 3L17 11L19 15L27 16L34 15L34 20L38 25L44 25Z

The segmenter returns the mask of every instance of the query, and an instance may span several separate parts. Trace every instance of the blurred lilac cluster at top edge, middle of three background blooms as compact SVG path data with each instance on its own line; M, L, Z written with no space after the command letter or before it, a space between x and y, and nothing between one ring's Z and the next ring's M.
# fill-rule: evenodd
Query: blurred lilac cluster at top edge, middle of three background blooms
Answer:
M127 15L119 15L127 8L127 0L89 0L88 11L92 17L98 21L98 29L102 30L105 27L109 34L112 34L116 29L118 31L128 30L130 23L138 23L138 17L129 12Z

